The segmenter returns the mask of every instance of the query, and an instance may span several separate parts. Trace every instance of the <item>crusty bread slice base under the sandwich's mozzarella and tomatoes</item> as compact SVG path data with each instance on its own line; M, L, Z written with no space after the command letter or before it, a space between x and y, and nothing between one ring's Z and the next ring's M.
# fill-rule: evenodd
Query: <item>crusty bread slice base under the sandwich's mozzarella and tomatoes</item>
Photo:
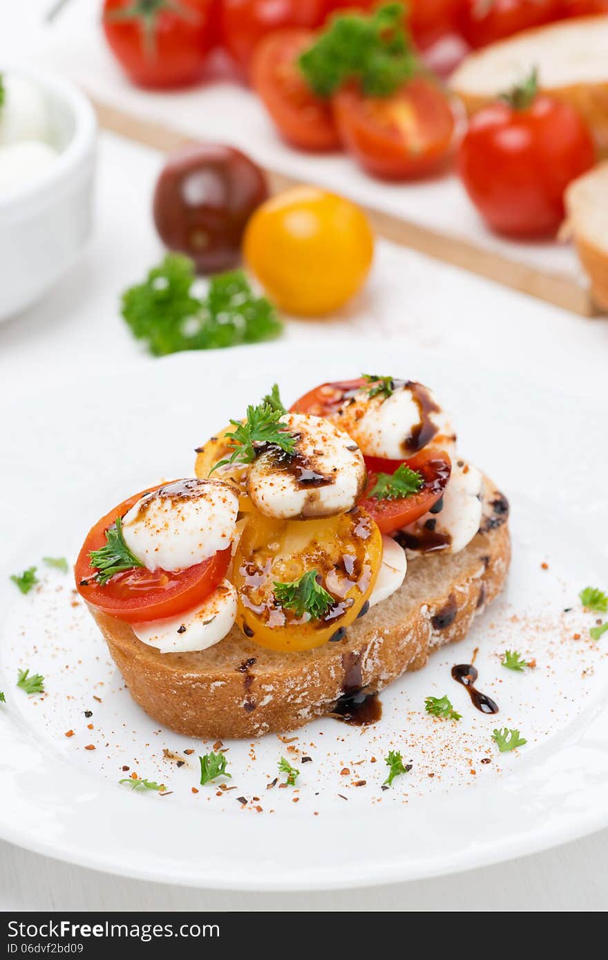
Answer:
M207 650L161 654L128 623L90 610L131 696L158 723L222 739L291 731L357 690L382 690L424 666L437 647L466 636L476 613L503 588L507 515L503 494L486 480L481 530L464 550L410 561L403 586L346 636L304 653L267 650L233 627Z

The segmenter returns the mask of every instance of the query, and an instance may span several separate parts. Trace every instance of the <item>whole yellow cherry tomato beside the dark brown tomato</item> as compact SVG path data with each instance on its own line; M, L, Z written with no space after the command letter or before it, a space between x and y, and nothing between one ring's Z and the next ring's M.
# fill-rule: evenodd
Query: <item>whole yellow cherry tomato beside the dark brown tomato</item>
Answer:
M360 207L312 186L271 197L249 220L246 263L287 313L337 310L361 288L374 238Z

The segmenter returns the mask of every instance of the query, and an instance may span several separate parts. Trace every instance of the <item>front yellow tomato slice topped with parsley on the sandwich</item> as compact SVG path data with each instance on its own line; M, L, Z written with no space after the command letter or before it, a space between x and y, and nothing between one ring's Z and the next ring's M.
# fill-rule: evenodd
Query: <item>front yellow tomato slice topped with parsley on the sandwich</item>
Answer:
M253 511L232 567L237 624L271 650L319 647L357 618L381 564L382 535L358 507L309 520L277 520ZM274 595L275 583L292 583L309 570L316 570L333 598L320 619L284 609Z

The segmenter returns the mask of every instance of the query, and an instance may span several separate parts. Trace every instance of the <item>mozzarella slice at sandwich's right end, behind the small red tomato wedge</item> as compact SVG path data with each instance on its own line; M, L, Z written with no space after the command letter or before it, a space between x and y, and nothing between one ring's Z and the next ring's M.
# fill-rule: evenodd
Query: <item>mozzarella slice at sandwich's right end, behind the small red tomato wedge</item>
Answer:
M406 528L412 539L425 541L425 532L433 532L447 540L446 553L459 553L479 531L483 510L483 475L477 467L464 460L452 462L452 473L442 497L443 507L438 514L424 514ZM408 543L411 549L411 542ZM412 554L417 551L412 550Z

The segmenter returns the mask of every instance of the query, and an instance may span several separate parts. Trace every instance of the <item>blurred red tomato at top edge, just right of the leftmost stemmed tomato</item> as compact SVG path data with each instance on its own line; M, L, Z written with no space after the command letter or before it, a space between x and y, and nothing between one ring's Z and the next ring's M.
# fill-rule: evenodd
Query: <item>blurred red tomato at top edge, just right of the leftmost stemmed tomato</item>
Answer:
M255 48L273 30L318 27L326 0L222 0L222 44L248 75Z

